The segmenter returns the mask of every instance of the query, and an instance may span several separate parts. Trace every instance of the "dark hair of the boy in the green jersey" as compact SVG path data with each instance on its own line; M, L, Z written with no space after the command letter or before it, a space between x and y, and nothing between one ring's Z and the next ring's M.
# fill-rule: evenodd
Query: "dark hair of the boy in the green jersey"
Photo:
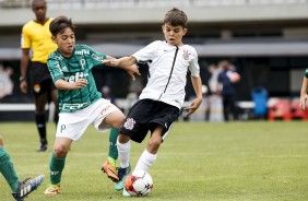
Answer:
M71 19L67 16L58 16L54 19L49 25L49 31L52 36L57 36L57 34L62 34L67 28L71 28L74 32L75 26L72 23Z

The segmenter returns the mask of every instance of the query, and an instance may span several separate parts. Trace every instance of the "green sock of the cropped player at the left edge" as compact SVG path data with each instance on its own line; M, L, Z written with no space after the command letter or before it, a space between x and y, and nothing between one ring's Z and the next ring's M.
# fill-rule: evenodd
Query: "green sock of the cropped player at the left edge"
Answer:
M12 192L16 192L20 179L5 147L0 149L0 172L10 185Z

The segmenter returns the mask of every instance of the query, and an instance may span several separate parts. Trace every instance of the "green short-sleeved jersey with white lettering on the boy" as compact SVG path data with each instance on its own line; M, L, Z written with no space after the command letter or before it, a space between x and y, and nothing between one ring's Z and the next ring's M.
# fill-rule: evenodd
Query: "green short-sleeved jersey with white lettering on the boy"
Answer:
M73 113L83 109L102 98L102 94L96 88L92 68L102 64L100 60L105 58L105 55L86 45L75 45L70 58L63 57L59 49L50 54L47 66L54 83L59 79L71 83L79 79L87 80L87 84L83 88L58 90L60 113Z

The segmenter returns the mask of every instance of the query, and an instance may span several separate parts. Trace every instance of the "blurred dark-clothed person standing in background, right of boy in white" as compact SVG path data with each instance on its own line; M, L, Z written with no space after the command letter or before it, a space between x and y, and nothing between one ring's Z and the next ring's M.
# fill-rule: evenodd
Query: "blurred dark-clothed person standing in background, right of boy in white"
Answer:
M222 69L218 74L218 83L221 84L220 88L223 97L224 120L229 121L230 115L233 120L238 120L235 84L239 82L240 75L227 60L220 61L218 68Z

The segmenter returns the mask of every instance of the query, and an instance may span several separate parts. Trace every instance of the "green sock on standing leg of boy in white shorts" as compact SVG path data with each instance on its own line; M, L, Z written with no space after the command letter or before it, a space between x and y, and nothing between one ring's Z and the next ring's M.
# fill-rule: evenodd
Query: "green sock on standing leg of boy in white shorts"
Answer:
M59 185L61 182L61 176L64 165L66 157L56 157L55 153L52 153L49 164L51 185Z

